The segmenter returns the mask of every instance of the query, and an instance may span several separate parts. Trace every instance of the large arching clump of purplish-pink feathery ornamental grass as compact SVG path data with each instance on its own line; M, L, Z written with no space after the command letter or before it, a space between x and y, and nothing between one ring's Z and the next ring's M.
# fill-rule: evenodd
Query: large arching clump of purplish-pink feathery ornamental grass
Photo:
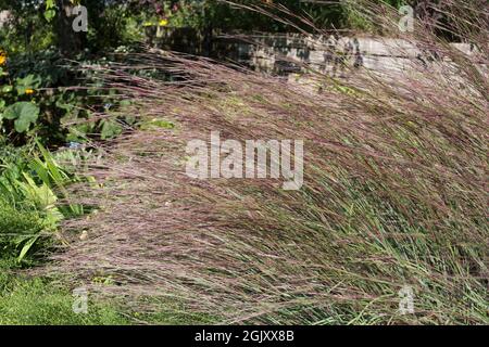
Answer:
M138 309L224 323L487 324L482 2L432 3L441 22L425 16L412 33L399 31L397 9L349 2L402 64L344 66L348 78L335 78L297 62L321 92L168 52L136 59L171 81L108 69L142 127L104 146L90 172L103 187L78 192L101 208L66 226L87 234L53 269L110 277L91 290ZM440 28L475 49L460 51ZM304 140L302 189L188 178L187 141L213 130L223 140ZM403 314L405 286L414 312Z

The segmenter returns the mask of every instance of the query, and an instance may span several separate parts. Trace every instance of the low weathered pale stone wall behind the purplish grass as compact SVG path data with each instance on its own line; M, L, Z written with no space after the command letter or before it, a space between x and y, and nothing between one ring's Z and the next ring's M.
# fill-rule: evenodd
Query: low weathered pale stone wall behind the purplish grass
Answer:
M150 43L162 49L203 54L248 65L256 70L289 75L308 68L341 76L344 66L396 72L413 62L437 59L408 41L389 38L284 35L225 35L192 29L159 28ZM452 43L474 54L466 43Z

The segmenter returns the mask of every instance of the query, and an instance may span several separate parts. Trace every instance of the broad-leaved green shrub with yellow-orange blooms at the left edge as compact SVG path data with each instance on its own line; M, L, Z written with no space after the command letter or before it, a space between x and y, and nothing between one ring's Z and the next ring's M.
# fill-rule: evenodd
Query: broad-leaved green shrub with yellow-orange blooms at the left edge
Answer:
M8 56L7 62L0 67L0 136L12 143L22 145L37 138L59 146L122 132L121 124L99 117L117 110L115 90L101 89L103 80L97 72L83 68L106 65L108 57L80 54L72 64L59 52L45 50ZM122 119L127 124L127 117Z

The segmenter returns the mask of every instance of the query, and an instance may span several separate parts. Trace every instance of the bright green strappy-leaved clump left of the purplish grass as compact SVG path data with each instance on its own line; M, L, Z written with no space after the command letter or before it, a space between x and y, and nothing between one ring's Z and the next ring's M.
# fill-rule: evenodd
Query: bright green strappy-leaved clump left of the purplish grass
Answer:
M34 260L37 250L60 242L58 228L65 218L84 214L71 203L66 187L79 178L62 167L41 144L29 156L25 149L5 145L0 156L0 246L2 256ZM75 154L65 155L75 160ZM64 164L66 165L66 164ZM67 200L67 202L63 202Z

